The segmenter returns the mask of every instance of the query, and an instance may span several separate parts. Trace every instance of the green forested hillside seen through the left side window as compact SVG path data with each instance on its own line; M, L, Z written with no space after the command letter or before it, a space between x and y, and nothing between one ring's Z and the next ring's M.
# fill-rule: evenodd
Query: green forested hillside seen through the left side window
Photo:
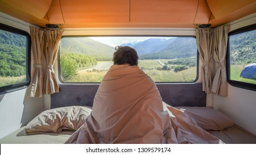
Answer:
M27 38L0 30L0 76L21 76L26 71Z

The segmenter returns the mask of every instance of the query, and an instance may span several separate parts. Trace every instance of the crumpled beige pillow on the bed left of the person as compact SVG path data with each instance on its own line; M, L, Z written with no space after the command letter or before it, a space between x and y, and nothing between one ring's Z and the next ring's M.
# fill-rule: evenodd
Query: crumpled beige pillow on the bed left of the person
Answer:
M25 127L26 135L43 132L59 133L62 130L78 130L91 113L85 106L68 106L43 111Z

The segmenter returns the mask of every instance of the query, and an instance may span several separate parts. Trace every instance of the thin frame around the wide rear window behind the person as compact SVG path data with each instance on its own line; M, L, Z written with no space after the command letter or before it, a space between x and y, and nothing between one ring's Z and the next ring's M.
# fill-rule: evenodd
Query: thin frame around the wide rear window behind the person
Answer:
M72 37L191 37L196 39L195 35L63 35L62 38L72 38ZM157 82L154 81L156 84L194 84L199 79L199 52L197 49L197 71L196 71L196 78L194 81L186 82L186 81L173 81L173 82ZM62 84L100 84L101 82L64 82L60 77L60 48L58 52L58 79Z

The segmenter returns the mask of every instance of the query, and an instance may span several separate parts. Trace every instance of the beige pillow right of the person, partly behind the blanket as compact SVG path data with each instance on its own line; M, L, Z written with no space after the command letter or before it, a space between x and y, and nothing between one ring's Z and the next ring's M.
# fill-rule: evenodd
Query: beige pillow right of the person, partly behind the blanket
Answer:
M233 125L227 116L212 107L176 107L192 117L204 130L223 130Z

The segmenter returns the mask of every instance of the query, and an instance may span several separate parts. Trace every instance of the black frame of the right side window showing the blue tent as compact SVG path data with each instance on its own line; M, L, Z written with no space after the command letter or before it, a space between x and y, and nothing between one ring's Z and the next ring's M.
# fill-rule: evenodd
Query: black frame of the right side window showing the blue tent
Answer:
M248 32L250 30L256 30L256 24L248 25L239 29L232 30L231 32L228 33L228 44L227 44L227 55L226 55L226 61L227 61L227 81L230 85L234 87L239 87L242 89L247 89L247 90L253 90L256 91L256 84L250 84L247 82L242 82L242 81L236 81L236 80L231 80L231 51L229 49L229 38L231 35L239 34L239 33L244 33Z

